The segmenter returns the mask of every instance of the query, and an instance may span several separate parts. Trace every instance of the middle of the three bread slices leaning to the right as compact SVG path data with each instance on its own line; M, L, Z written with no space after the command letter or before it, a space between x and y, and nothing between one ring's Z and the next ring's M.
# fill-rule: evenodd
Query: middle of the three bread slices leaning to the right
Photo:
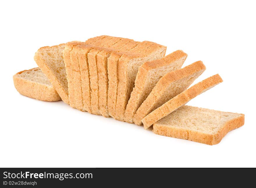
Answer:
M134 123L141 125L141 120L147 114L186 90L204 71L205 65L202 61L197 61L182 69L165 74L134 114Z

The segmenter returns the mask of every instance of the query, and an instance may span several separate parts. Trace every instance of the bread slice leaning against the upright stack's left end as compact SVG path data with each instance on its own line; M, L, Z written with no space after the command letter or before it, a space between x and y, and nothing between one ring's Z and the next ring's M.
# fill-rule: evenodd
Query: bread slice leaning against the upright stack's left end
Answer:
M65 43L39 48L34 60L61 97L69 104L66 69L62 51Z

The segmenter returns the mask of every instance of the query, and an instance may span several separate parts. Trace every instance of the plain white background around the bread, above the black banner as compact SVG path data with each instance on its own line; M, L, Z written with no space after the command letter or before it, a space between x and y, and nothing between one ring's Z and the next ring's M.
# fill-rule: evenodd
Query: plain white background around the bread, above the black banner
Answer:
M4 3L3 3L4 2ZM1 1L1 167L256 167L253 1ZM209 146L156 135L20 95L12 76L37 67L38 48L99 35L181 49L202 60L195 83L223 83L188 103L245 114L245 125Z

